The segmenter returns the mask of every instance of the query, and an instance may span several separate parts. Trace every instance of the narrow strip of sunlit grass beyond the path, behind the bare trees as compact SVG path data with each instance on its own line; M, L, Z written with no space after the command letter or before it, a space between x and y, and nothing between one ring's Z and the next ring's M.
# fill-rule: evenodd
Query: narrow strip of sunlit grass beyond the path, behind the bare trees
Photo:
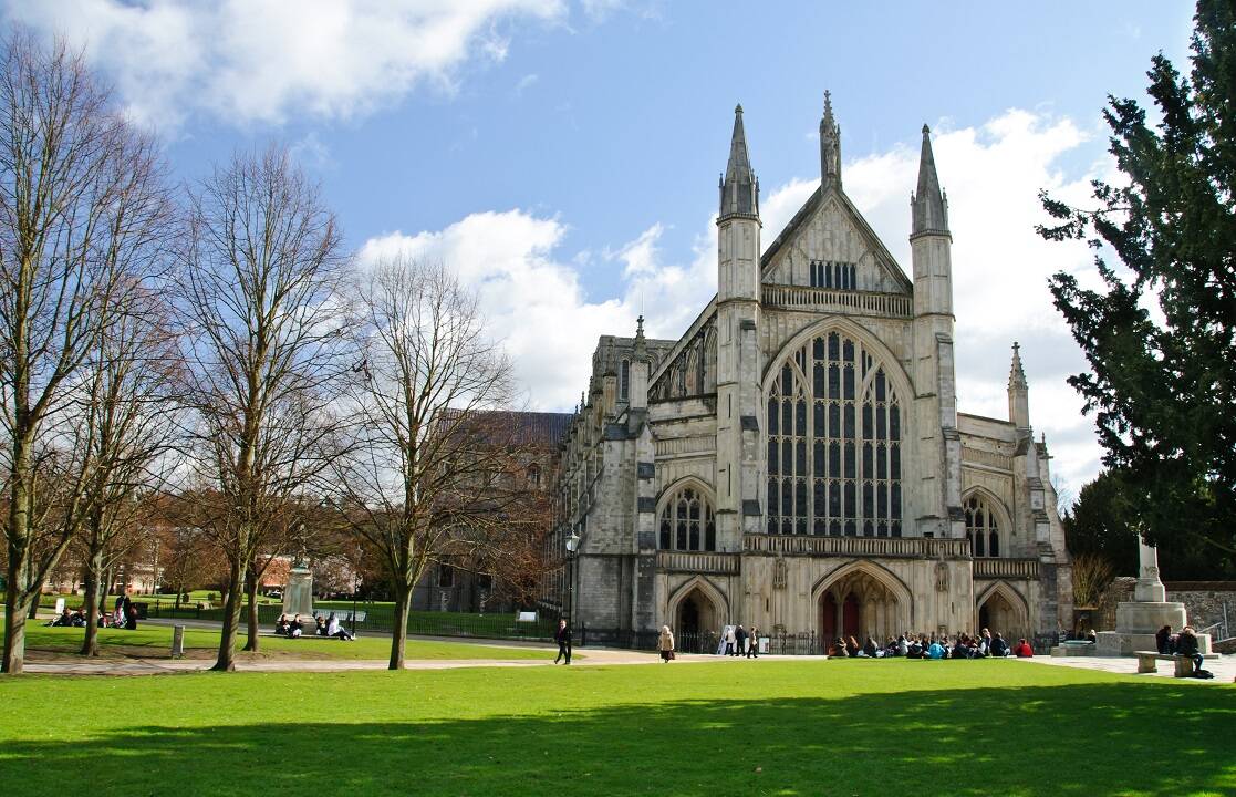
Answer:
M75 654L82 647L85 631L80 628L46 628L43 625L26 626L26 651L31 661L48 656L58 657ZM246 636L241 634L240 644ZM105 656L168 657L172 646L172 629L167 625L138 625L136 630L104 628L99 629L99 643ZM219 633L210 630L187 629L184 633L185 654L195 659L214 657L219 649ZM467 643L444 643L438 640L412 639L405 647L410 659L501 659L504 661L523 661L530 659L552 657L555 650L536 647L497 647L492 645L472 645ZM391 639L386 636L361 636L353 643L337 639L305 636L302 639L283 639L262 636L261 652L266 659L353 659L387 660L391 656ZM243 654L248 656L248 654Z

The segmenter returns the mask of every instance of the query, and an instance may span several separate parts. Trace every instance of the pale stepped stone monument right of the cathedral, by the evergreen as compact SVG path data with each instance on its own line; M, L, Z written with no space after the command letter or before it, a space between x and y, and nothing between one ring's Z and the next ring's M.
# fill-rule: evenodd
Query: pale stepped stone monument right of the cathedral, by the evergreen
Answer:
M1133 599L1116 604L1116 630L1099 631L1095 647L1100 656L1131 656L1135 650L1154 650L1154 633L1169 625L1179 633L1187 624L1184 604L1167 599L1159 580L1158 551L1137 538L1137 584ZM1203 654L1210 652L1210 635L1198 634Z

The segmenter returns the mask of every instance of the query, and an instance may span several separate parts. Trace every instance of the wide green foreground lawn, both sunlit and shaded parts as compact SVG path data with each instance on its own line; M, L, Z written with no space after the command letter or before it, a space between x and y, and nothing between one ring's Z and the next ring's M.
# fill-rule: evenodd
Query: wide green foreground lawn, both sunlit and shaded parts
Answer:
M0 680L12 795L1231 795L1236 689L1017 661Z

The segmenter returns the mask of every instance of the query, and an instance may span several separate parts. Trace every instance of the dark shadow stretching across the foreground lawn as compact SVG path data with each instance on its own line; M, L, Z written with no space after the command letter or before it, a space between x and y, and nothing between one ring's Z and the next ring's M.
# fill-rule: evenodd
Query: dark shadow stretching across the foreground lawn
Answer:
M467 720L147 725L73 744L6 743L0 783L91 797L712 796L728 785L753 795L1230 795L1234 732L1234 689L937 689Z

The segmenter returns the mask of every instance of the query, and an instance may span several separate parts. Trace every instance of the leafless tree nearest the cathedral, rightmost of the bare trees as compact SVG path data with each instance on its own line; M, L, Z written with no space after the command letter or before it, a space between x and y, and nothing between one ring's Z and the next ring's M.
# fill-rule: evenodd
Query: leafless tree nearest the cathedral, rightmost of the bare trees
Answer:
M366 348L356 440L329 486L396 592L389 667L403 668L412 591L434 561L489 545L523 494L509 361L485 337L476 297L442 266L377 263L358 285Z

